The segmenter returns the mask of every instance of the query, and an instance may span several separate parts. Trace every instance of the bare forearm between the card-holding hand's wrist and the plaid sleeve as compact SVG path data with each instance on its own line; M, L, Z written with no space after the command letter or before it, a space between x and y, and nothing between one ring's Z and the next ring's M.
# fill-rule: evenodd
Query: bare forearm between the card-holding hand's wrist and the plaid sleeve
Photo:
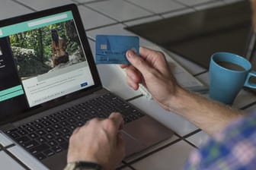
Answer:
M238 109L232 109L228 105L222 105L182 88L177 88L175 95L170 99L168 109L194 123L207 134L222 131L231 121L244 115Z

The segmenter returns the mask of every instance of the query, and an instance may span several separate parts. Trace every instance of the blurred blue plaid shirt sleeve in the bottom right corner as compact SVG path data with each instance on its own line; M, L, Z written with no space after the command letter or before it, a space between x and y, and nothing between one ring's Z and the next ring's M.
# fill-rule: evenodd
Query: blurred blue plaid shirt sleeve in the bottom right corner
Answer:
M225 131L191 153L187 170L256 169L256 113L230 124Z

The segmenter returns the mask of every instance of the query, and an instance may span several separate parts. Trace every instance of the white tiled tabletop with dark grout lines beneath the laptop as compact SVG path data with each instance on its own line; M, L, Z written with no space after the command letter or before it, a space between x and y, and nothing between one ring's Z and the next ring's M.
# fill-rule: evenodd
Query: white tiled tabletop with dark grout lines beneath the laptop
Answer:
M71 2L78 4L91 49L94 53L96 34L133 35L133 33L123 28L197 11L202 8L225 5L234 1L237 0L2 0L0 2L0 19ZM141 46L153 45L152 42L142 38L140 42ZM203 83L208 84L208 73L205 69L177 55L173 55L173 58L181 65L184 65L184 68L187 68L191 74L197 75L197 78ZM182 169L190 151L196 150L198 146L205 143L209 136L181 116L166 112L153 100L148 100L141 96L139 91L131 90L126 85L125 77L117 69L117 66L98 65L97 67L104 87L117 93L123 99L128 99L129 102L161 121L162 124L171 128L175 133L169 140L158 143L158 145L152 146L136 156L125 159L119 169ZM205 96L207 97L207 95ZM254 94L242 90L235 99L234 107L245 109L246 112L254 112L256 109L255 101L256 96ZM25 167L33 167L32 169L43 169L40 162L35 161L34 158L2 134L0 134L0 144L0 164L2 169L24 169L24 165ZM13 157L8 156L7 152L12 153ZM22 166L22 164L24 165Z

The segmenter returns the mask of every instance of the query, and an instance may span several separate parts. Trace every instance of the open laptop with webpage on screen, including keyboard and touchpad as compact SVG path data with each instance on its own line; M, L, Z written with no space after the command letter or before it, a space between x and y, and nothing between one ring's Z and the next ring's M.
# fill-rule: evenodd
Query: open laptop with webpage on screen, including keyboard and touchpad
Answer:
M123 115L126 157L173 134L102 87L74 4L1 20L0 49L0 130L47 168L65 167L75 128L111 112Z

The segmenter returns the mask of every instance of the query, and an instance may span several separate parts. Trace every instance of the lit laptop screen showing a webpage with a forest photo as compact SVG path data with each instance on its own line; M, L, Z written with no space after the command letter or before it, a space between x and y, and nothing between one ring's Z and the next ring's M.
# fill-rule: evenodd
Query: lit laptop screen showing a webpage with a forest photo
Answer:
M98 83L77 8L66 8L16 17L0 27L0 118Z

